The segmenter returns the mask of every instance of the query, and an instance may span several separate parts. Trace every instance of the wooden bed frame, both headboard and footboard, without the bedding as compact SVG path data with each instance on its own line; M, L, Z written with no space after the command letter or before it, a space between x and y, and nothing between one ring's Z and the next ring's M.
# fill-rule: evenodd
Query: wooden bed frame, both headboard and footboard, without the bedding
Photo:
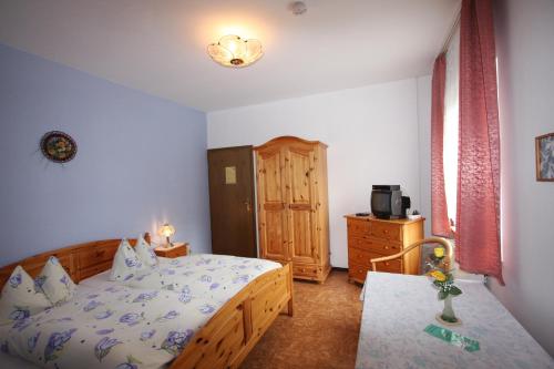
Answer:
M145 234L150 243L150 235ZM121 239L95 240L28 257L0 268L3 286L16 266L33 278L55 256L73 281L111 269ZM136 239L129 239L134 246ZM293 316L293 268L285 264L250 281L196 332L171 369L238 368L280 312Z

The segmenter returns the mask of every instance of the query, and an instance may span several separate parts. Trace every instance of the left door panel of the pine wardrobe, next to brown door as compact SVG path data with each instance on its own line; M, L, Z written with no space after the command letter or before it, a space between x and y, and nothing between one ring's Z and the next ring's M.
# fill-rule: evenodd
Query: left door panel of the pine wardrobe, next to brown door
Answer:
M289 260L283 150L276 147L258 152L256 164L260 256Z

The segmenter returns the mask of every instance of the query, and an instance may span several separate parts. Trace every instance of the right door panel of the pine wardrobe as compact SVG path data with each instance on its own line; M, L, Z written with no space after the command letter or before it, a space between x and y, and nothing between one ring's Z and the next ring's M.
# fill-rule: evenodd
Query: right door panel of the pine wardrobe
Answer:
M315 232L314 150L307 145L290 145L286 155L290 257L295 264L317 264L319 252Z

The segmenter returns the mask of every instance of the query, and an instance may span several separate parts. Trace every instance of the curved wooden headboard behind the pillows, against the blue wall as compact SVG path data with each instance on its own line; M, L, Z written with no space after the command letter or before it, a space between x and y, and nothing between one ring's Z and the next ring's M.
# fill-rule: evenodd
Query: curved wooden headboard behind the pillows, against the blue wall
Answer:
M131 246L136 245L136 238L127 238ZM144 234L150 244L150 234ZM112 260L120 246L121 239L103 239L68 246L51 252L34 255L20 262L0 268L0 289L10 277L13 269L21 265L31 277L37 277L50 256L55 256L65 268L71 279L79 283L84 278L112 268Z

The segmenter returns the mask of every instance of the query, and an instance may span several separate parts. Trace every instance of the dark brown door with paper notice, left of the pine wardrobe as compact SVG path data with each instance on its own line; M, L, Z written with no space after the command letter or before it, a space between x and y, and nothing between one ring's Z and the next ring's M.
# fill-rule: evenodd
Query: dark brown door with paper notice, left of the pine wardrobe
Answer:
M214 254L257 257L252 146L207 152Z

